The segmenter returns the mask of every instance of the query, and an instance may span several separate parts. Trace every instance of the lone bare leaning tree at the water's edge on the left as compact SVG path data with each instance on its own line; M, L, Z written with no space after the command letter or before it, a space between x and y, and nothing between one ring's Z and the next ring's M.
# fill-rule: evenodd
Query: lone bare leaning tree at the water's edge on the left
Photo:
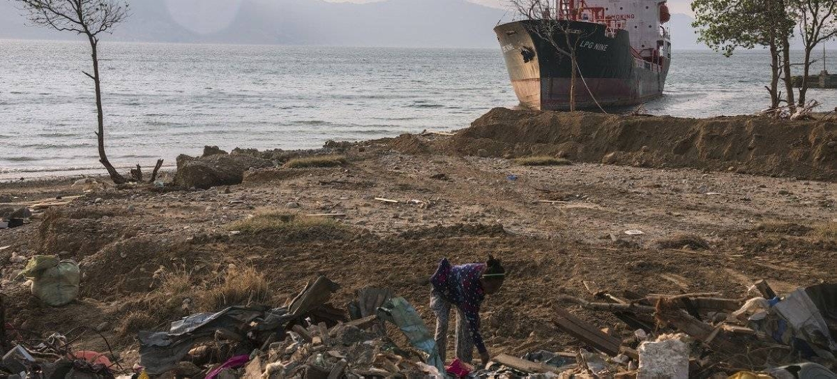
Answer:
M99 34L110 34L118 23L128 17L128 3L124 0L13 0L28 12L29 21L35 25L58 31L74 32L83 35L90 42L90 56L93 60L93 74L82 71L95 83L96 112L99 122L95 133L99 143L99 162L105 166L110 179L116 184L125 184L128 179L116 172L105 153L105 114L102 110L101 76L99 73ZM157 179L157 172L162 167L162 159L157 160L151 182ZM131 170L131 179L142 180L142 172L137 165Z

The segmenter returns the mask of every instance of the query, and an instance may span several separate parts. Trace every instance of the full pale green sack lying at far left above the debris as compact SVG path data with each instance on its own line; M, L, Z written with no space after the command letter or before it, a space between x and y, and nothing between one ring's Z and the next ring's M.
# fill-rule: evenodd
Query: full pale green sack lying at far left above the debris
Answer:
M60 307L71 303L79 295L81 271L74 261L61 261L42 270L32 279L32 293L44 303Z

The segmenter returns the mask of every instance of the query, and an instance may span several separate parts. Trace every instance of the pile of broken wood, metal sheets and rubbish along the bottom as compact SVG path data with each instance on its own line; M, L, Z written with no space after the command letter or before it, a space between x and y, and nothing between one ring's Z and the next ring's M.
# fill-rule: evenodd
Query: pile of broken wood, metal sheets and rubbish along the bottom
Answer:
M556 308L552 322L581 348L500 354L484 367L459 360L445 366L433 335L405 299L364 288L344 312L328 304L339 285L321 276L279 308L234 306L193 314L168 330L140 332L140 363L130 371L112 352L73 350L65 335L35 342L4 337L0 377L837 378L829 371L837 365L837 285L778 296L762 281L753 287L761 296L752 299L617 296L595 283L585 286L597 302L562 300L614 314L629 335Z

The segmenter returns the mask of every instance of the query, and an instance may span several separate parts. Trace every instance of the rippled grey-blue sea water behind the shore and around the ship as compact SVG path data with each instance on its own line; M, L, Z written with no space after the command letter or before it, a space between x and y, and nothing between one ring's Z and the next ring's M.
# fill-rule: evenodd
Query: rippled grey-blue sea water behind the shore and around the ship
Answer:
M87 46L0 40L0 179L99 171ZM204 145L318 148L328 139L468 127L517 105L500 49L211 44L100 46L105 128L119 167L173 164ZM833 53L829 56L835 57ZM831 61L829 71L837 72ZM815 65L819 73L822 63ZM675 51L648 112L750 114L768 105L768 55ZM809 91L837 106L837 91ZM69 172L68 172L69 170ZM98 171L97 171L98 172Z

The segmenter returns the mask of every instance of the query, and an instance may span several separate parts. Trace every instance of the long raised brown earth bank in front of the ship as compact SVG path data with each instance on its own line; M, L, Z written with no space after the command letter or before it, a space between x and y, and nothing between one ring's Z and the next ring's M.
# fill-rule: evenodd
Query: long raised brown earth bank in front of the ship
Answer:
M837 180L837 123L830 121L495 108L457 133L447 148L467 155L480 150L496 157L561 153L581 162Z

